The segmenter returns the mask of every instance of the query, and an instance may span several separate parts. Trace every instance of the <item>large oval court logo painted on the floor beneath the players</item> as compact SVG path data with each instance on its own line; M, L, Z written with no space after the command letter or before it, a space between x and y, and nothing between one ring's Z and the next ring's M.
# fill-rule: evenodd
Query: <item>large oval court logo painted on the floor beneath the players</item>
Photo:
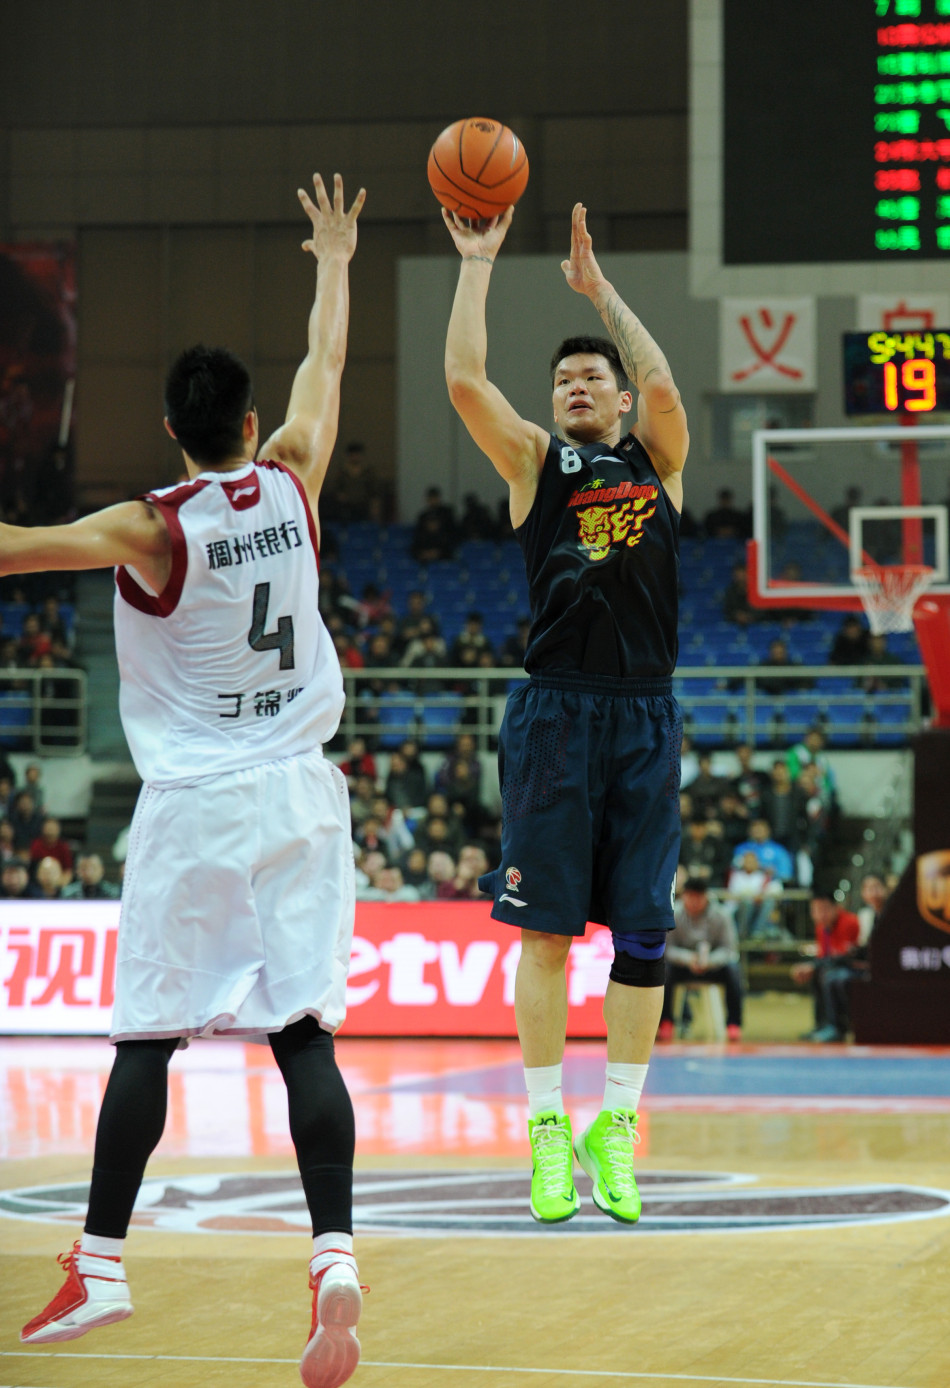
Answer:
M833 1228L931 1219L950 1213L950 1192L915 1185L840 1185L760 1190L754 1177L724 1171L643 1171L639 1234L722 1234ZM581 1212L543 1227L528 1212L526 1171L357 1171L354 1224L372 1234L482 1234L557 1238L622 1235L628 1226L601 1214L590 1183L578 1177ZM0 1191L0 1214L81 1226L88 1185ZM151 1177L142 1185L133 1224L189 1234L308 1234L310 1216L292 1171L228 1171Z

